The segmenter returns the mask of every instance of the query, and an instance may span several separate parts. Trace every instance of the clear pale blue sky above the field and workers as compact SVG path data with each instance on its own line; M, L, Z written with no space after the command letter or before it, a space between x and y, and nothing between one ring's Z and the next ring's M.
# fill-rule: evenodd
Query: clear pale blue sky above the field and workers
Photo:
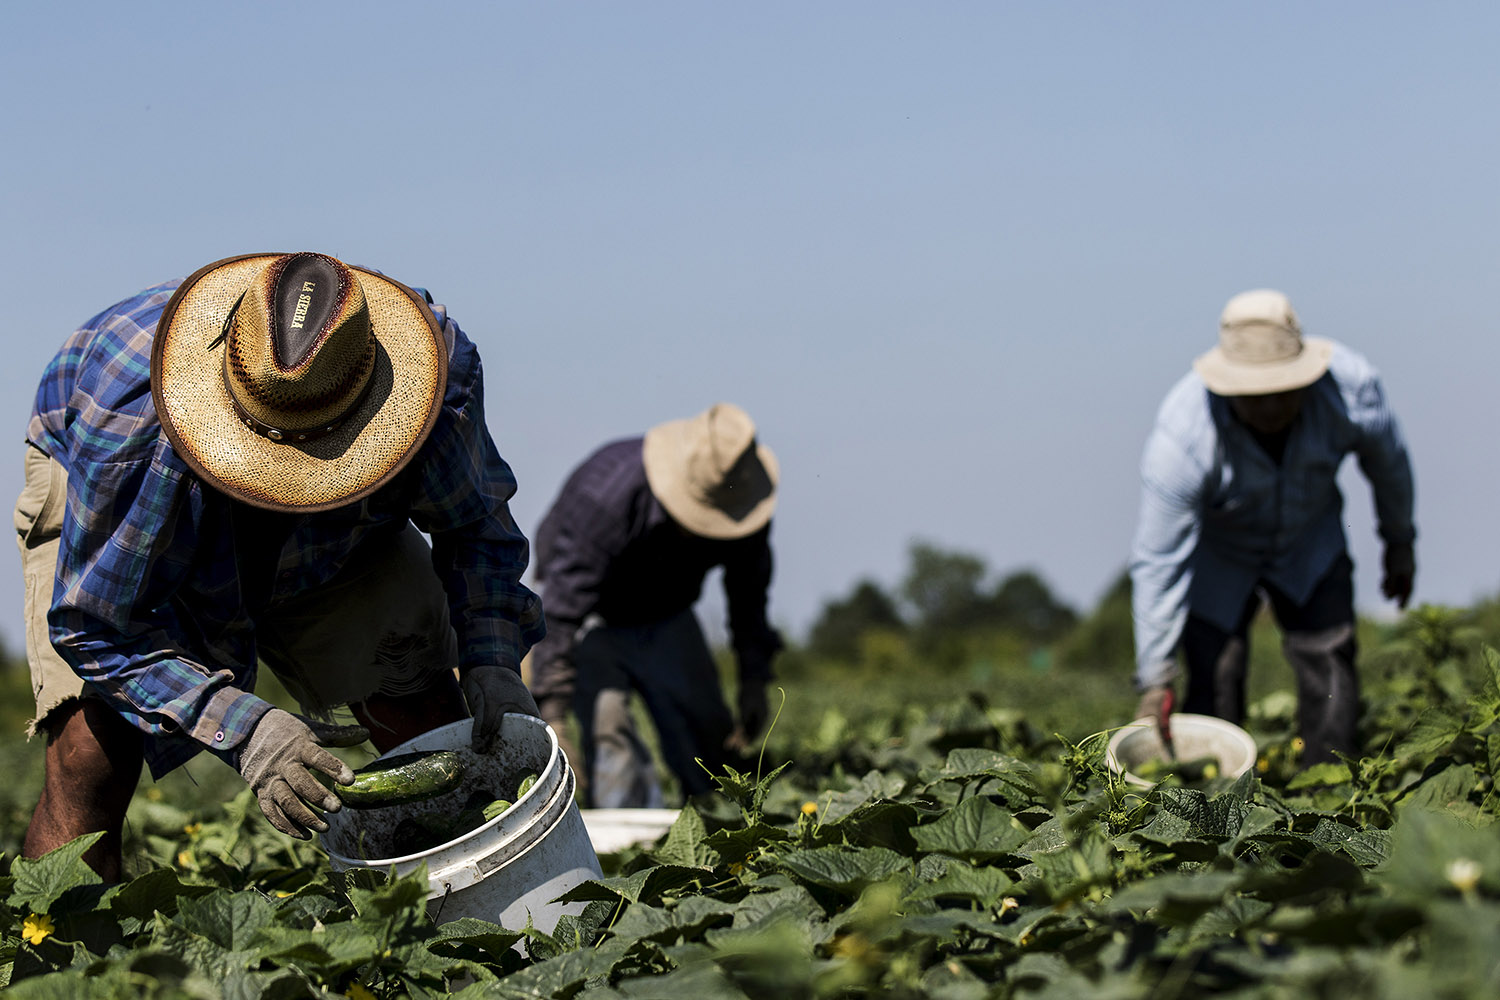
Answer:
M15 4L0 496L68 331L315 249L480 345L528 531L596 445L728 399L782 462L794 634L914 538L1089 607L1158 400L1272 286L1383 370L1418 600L1467 604L1500 589L1497 48L1492 3Z

